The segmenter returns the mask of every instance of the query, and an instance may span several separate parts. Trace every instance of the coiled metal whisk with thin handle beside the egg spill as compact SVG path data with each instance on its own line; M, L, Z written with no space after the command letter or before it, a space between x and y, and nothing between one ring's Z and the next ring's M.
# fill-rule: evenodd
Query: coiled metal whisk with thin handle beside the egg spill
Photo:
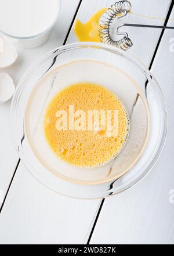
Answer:
M119 19L123 16L126 16L128 12L130 12L131 8L132 6L129 1L115 2L114 5L111 6L111 8L108 8L100 24L99 36L100 36L101 42L104 42L105 44L114 45L115 47L121 48L124 51L126 51L127 49L132 47L133 42L128 37L128 33L118 31L120 27L127 26L127 27L148 27L148 28L155 28L155 29L174 29L174 27L124 23L115 29L115 33L117 35L124 35L124 37L122 37L118 41L114 41L111 37L111 25L114 19L115 18Z

